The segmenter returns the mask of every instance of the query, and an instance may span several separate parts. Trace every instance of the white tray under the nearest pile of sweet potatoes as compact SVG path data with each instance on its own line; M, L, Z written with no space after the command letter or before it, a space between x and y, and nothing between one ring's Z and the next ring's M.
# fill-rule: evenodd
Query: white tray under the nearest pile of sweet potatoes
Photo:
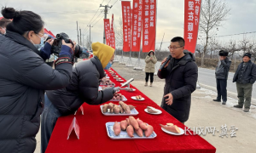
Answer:
M139 137L137 133L133 133L134 137L131 138L128 136L126 131L122 131L122 130L118 136L115 136L113 133L113 124L114 122L106 122L107 133L110 139L154 139L157 136L156 133L154 133L153 131L153 133L149 137L146 137L144 133L143 133L143 137Z

